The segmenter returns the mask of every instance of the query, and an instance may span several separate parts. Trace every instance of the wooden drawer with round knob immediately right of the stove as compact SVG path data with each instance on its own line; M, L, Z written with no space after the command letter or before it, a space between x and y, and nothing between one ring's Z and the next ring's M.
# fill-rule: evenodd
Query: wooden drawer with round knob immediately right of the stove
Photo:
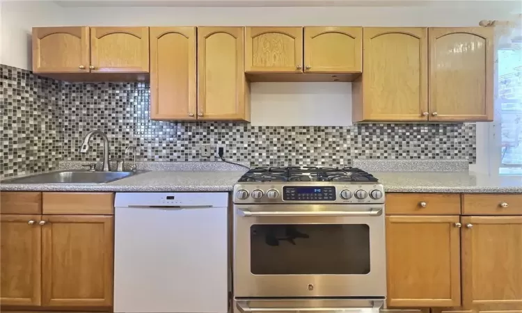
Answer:
M387 193L386 214L459 215L457 193Z

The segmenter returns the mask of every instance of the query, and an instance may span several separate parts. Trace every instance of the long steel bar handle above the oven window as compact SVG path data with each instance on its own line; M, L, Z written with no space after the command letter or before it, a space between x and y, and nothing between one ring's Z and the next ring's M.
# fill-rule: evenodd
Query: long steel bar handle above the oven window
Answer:
M369 211L245 211L237 210L244 217L251 216L381 216L381 208Z

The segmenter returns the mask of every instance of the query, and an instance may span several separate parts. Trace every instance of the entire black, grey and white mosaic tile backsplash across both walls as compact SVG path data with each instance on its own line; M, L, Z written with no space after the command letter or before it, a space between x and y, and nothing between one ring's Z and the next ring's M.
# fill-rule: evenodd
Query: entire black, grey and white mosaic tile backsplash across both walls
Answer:
M265 166L338 166L349 165L351 159L476 159L474 124L259 127L153 121L147 83L66 83L1 68L2 73L11 71L2 74L3 177L46 170L58 160L100 159L99 137L93 138L90 152L79 153L84 136L93 129L107 134L112 159L131 160L131 153L123 153L134 145L136 161L219 159L200 157L201 144L226 145L226 159ZM24 103L24 109L17 109Z

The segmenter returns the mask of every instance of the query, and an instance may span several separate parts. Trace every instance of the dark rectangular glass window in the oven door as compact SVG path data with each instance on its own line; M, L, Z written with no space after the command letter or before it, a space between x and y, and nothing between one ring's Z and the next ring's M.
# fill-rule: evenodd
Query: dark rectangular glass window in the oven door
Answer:
M370 273L370 227L365 224L252 225L255 275Z

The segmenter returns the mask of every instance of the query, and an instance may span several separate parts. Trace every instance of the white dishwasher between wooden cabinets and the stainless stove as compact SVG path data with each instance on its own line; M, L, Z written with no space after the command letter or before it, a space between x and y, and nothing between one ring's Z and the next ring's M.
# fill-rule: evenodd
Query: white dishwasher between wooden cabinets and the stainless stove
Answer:
M228 312L228 193L116 193L114 312Z

